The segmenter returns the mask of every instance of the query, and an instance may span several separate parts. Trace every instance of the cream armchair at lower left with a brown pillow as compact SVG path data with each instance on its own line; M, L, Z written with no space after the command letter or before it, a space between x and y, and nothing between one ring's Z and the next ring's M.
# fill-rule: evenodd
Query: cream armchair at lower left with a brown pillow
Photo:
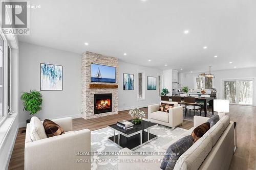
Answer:
M91 131L73 131L72 117L53 119L65 134L32 141L30 124L27 124L25 139L25 169L90 169L90 156L78 156L77 152L91 151Z

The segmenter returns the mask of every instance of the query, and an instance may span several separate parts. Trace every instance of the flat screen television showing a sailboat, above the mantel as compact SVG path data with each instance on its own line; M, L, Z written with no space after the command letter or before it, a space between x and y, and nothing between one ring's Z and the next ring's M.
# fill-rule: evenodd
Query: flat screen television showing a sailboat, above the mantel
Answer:
M116 67L91 63L91 82L116 83Z

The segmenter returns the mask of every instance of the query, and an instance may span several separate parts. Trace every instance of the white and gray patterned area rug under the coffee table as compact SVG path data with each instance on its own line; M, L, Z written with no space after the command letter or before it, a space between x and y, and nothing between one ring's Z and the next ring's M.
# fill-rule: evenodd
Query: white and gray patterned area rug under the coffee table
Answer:
M177 136L184 133L185 129L175 128L171 130L168 127L158 125L150 130L152 134L158 135L158 138L143 145L142 147L135 150L136 152L154 152L158 151L164 144L175 139ZM112 143L108 137L113 136L113 130L109 128L103 128L91 132L91 152L93 153L108 153L108 152L118 152L121 150L114 143ZM91 157L93 160L91 164L91 169L118 169L118 156L113 155L93 155ZM102 161L104 160L104 161ZM107 160L107 161L105 161Z

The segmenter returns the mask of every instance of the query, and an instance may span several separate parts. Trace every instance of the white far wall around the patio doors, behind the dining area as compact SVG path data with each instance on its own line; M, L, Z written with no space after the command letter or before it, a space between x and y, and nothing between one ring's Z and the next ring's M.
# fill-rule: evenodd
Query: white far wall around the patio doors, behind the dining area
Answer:
M256 68L240 68L211 71L215 75L213 87L217 89L218 99L223 98L222 81L224 79L254 78L254 106L256 105ZM195 89L195 78L201 73L186 74L186 85L189 89Z

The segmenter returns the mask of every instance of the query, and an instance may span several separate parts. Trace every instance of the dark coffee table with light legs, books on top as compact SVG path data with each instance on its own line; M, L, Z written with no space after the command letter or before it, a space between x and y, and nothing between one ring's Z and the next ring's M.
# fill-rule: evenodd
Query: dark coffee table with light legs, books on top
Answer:
M132 122L132 120L127 120ZM142 120L140 125L134 125L132 129L124 130L116 124L109 125L108 128L114 131L114 135L109 140L116 143L119 148L129 148L134 151L142 145L158 138L157 135L150 133L150 129L158 126L155 123ZM144 130L147 129L147 132ZM116 135L116 131L118 134Z

